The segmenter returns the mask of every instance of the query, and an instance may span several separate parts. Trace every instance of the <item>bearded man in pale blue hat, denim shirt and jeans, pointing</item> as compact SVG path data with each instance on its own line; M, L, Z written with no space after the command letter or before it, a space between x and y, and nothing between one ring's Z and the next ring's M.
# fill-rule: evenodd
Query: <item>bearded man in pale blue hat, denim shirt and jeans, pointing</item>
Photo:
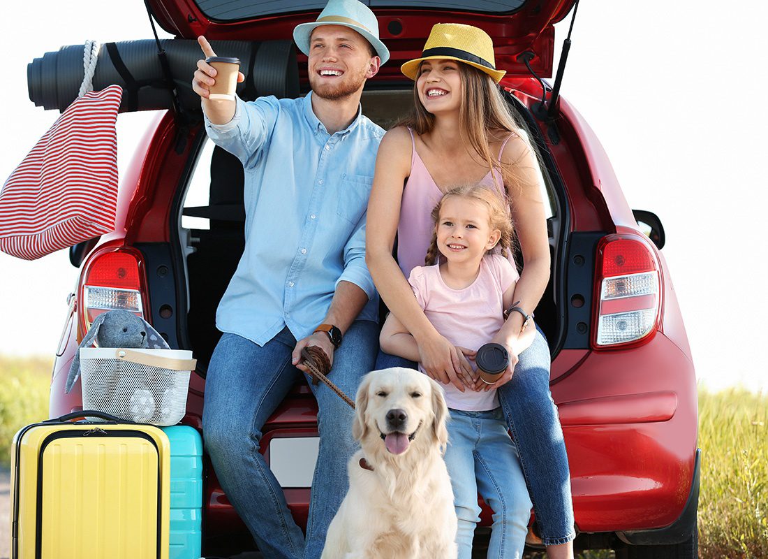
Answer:
M351 397L374 366L378 299L365 225L384 131L359 100L389 51L376 16L357 0L330 0L293 38L309 57L306 98L210 99L216 71L200 60L194 74L208 135L243 162L247 215L246 248L217 311L223 336L208 368L203 430L223 489L265 557L316 559L346 494L353 411L325 384L310 384L320 446L306 548L259 453L261 429L306 373L302 348L322 348L329 377ZM214 56L205 38L198 42Z

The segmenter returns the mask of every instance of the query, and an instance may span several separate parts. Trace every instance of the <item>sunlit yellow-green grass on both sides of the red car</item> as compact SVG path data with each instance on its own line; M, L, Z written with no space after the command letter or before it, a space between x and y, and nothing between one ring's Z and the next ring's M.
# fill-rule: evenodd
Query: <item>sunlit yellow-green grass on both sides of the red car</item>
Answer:
M50 359L0 356L0 466L16 431L48 417L50 378ZM700 557L768 559L768 395L700 391L699 446Z

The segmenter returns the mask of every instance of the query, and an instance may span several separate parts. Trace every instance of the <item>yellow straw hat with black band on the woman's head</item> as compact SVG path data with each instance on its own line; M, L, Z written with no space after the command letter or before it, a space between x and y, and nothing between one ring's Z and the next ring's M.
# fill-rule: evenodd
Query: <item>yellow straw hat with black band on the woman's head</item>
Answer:
M429 32L429 38L422 58L409 60L400 67L400 71L415 81L419 72L419 64L424 60L435 58L449 58L458 60L470 66L474 66L481 72L485 72L498 82L507 73L505 70L496 69L496 60L493 55L493 41L480 28L474 25L462 23L437 23Z

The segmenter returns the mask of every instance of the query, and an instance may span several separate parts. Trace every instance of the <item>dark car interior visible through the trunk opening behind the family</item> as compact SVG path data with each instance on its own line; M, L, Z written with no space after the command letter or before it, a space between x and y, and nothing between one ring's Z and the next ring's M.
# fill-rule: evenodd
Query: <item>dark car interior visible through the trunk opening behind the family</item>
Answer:
M523 128L529 135L537 134L538 128L531 130L525 125L528 109L511 95L508 99ZM362 97L364 114L385 129L405 115L412 102L410 89L371 88L366 89ZM243 166L233 155L207 140L204 131L201 130L200 134L197 168L187 185L182 216L177 222L181 224L178 235L181 246L178 250L186 255L189 302L187 331L180 338L190 341L199 368L206 368L221 335L216 328L216 308L243 253L245 211ZM561 242L557 232L561 231L560 220L564 211L546 170L542 170L541 190L550 231L551 261L554 263L558 243ZM521 267L523 261L519 250L515 261L518 268ZM553 350L560 338L561 328L553 289L554 277L553 271L547 291L535 309L535 321Z

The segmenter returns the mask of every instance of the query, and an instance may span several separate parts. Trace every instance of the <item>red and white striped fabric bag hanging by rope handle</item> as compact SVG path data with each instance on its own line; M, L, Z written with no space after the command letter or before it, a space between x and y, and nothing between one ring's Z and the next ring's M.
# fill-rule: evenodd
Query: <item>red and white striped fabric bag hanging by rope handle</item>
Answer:
M123 90L75 99L0 191L0 251L35 260L114 230Z

